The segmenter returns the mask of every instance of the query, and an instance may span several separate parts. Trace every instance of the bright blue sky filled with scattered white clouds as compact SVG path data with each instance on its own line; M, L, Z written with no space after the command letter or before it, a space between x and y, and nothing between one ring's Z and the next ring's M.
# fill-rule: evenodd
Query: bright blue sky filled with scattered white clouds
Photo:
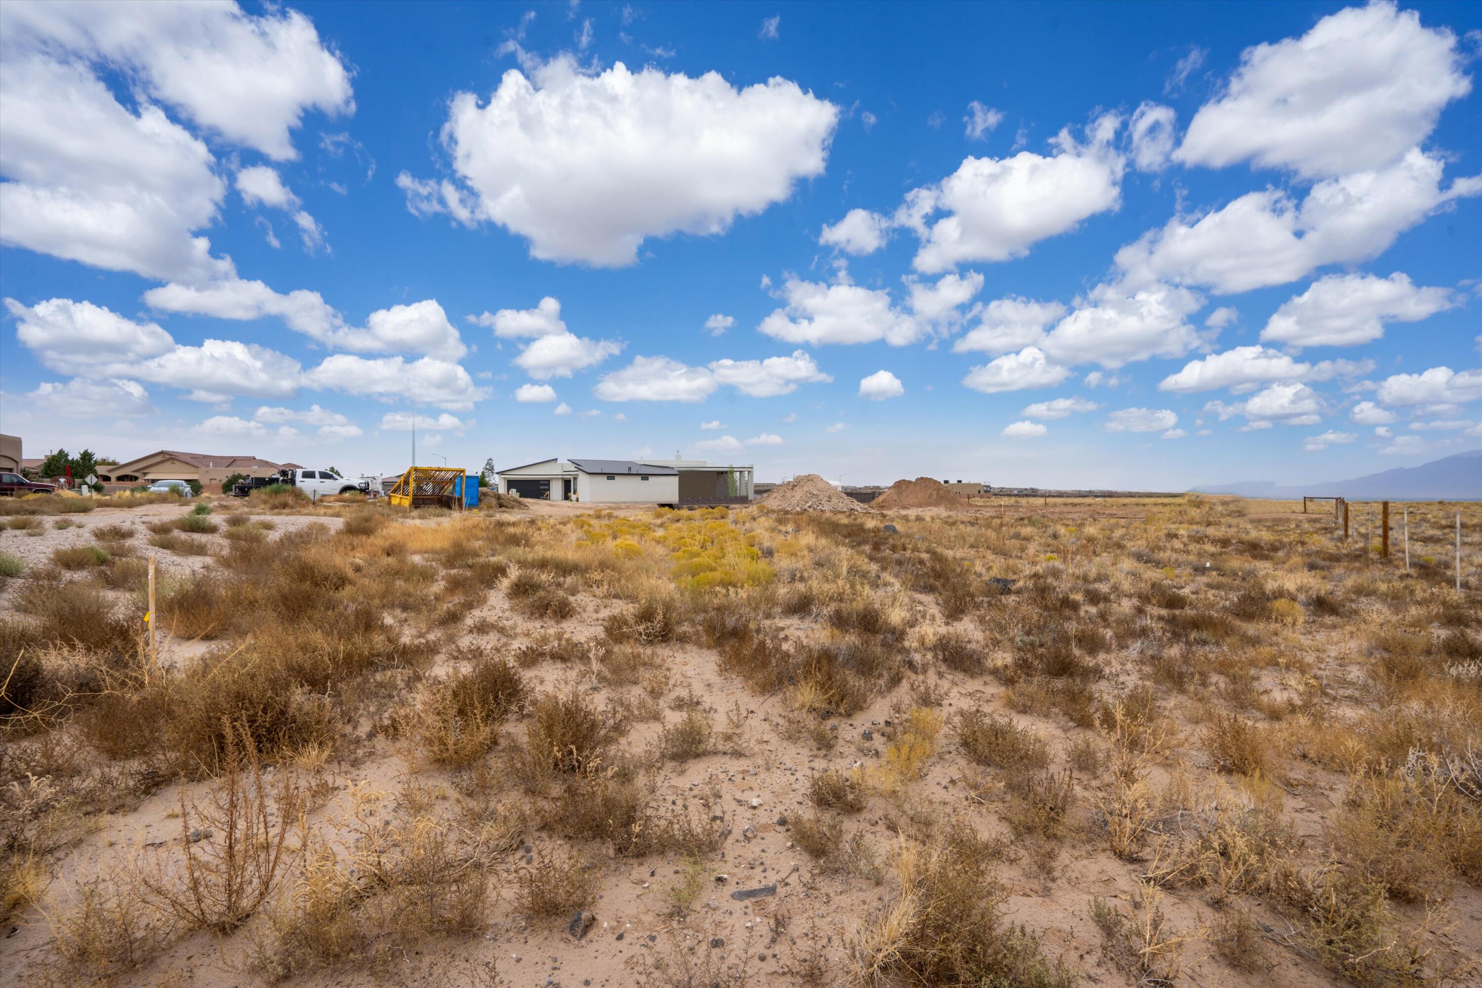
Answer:
M0 9L0 421L1180 489L1482 444L1476 4Z

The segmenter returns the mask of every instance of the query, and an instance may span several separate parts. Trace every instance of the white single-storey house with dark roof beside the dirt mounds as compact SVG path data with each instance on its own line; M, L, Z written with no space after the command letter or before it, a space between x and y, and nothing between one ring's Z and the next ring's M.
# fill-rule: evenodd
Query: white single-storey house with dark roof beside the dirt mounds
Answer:
M542 459L495 471L499 493L581 504L745 504L751 465L700 459Z

